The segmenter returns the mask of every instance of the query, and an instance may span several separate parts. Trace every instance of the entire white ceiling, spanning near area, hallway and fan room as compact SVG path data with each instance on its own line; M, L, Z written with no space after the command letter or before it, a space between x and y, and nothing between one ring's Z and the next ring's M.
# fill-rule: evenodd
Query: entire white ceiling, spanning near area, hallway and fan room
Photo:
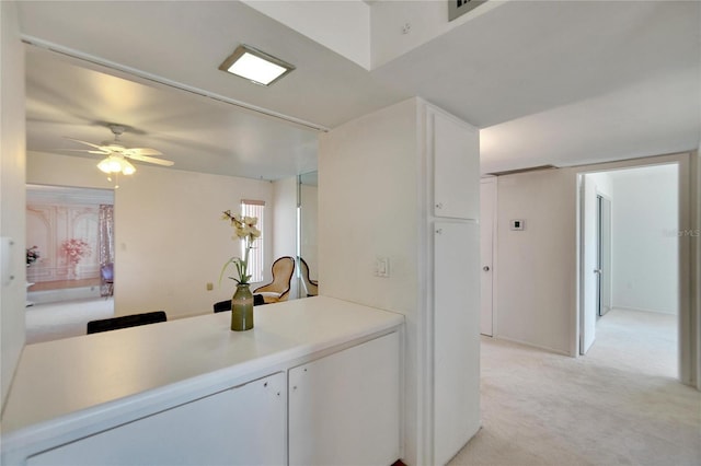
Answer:
M149 77L326 128L420 95L484 128L483 172L699 147L699 2L512 1L372 71L233 1L19 7L26 38L140 75L30 47L28 150L79 149L64 137L100 142L120 123L127 145L174 168L277 179L315 167L313 129ZM219 71L239 43L297 69L271 88Z

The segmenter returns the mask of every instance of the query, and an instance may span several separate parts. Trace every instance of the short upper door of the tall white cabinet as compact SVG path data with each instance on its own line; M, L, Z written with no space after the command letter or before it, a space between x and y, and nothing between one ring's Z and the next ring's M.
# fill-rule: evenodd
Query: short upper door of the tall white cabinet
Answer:
M480 217L480 132L470 125L430 110L433 131L434 215Z

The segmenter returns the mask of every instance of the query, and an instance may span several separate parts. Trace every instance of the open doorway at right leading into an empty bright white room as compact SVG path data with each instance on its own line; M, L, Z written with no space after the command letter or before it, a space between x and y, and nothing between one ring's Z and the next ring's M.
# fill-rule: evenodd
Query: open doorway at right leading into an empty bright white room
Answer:
M680 265L675 233L679 229L679 164L627 167L579 177L579 354L596 346L597 331L624 317L628 327L637 328L634 331L639 338L669 346L665 351L674 351L677 358L674 370L664 372L677 374ZM645 326L651 319L671 321L673 325L656 326L671 334L651 335L650 326Z

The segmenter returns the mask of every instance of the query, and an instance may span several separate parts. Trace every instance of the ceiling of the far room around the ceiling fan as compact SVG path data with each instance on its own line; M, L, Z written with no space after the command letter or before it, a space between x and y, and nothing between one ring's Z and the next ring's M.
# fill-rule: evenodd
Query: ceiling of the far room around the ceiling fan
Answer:
M278 179L317 167L317 131L183 91L146 85L79 67L30 47L27 149L102 159L71 150L114 138L150 147L174 168ZM138 162L136 162L138 164Z

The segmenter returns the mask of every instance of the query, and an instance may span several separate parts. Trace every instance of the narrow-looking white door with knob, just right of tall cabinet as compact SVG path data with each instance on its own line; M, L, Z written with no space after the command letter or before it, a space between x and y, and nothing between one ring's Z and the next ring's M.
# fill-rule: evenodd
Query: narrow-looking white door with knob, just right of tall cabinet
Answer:
M480 333L494 335L494 219L496 210L496 178L485 178L480 183L480 244L482 257Z

